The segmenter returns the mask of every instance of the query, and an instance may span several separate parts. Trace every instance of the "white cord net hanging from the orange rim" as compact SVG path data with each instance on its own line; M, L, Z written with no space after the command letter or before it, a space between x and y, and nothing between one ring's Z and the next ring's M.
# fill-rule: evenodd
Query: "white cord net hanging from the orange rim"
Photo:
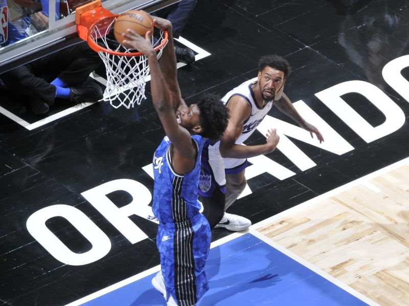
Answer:
M118 43L112 43L112 40L107 37L115 20L116 18L113 18L97 24L90 31L90 36L95 42L99 42L100 45L102 44L108 50L121 53L135 52L135 50L126 49ZM164 39L164 32L159 32L160 38L152 36L154 47L160 45ZM164 46L157 50L157 58L161 57ZM145 85L149 78L148 59L143 55L112 55L102 50L98 54L106 68L107 83L102 99L109 101L114 108L124 106L129 109L135 103L140 105L141 101L146 99Z

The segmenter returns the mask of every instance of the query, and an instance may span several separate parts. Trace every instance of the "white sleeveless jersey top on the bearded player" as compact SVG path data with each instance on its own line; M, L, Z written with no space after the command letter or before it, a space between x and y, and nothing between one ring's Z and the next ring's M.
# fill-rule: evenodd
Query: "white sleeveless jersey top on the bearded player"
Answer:
M237 138L236 144L242 144L248 137L250 137L250 135L253 134L254 131L256 131L256 127L260 124L272 107L272 100L262 108L258 106L257 102L253 98L253 91L251 90L251 86L256 82L257 77L248 80L236 88L233 88L221 99L226 105L232 96L239 95L247 101L248 105L252 109L251 115L243 123L243 132L239 138Z

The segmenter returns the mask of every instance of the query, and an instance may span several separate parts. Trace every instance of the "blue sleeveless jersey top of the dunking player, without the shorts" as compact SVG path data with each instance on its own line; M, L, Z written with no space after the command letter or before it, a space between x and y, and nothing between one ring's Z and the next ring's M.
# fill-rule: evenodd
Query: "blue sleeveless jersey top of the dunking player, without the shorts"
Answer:
M162 225L181 223L199 214L197 186L200 173L200 152L205 139L193 135L197 145L196 165L184 175L175 173L170 156L170 141L167 136L157 147L153 156L154 192L152 211Z

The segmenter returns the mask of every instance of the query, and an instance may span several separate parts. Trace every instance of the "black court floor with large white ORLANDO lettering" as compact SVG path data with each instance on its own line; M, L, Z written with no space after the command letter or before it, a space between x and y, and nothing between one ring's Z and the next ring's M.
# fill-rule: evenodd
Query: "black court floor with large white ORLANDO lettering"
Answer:
M187 103L276 53L292 66L285 92L325 138L273 107L263 123L280 145L250 160L231 213L256 223L409 156L408 26L407 0L198 2L182 36L210 55L178 70ZM149 94L130 110L58 105L50 122L5 92L0 106L0 305L64 305L157 266L149 165L164 131Z

